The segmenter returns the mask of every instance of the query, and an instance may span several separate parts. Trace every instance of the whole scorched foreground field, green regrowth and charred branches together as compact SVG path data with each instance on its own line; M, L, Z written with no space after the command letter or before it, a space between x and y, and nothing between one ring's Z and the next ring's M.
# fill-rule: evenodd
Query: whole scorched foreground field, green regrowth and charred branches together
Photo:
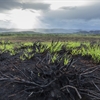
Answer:
M100 42L0 42L0 100L100 100Z

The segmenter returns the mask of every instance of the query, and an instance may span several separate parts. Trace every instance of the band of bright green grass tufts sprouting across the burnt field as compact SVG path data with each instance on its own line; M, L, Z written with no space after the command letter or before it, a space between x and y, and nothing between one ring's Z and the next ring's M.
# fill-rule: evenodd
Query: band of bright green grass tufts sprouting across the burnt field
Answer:
M2 41L0 44L0 53L10 53L16 55L20 52L20 59L31 59L35 54L42 54L48 52L51 55L51 62L64 61L68 63L70 58L67 54L69 50L71 55L91 56L94 62L100 62L100 46L98 43L91 44L90 42L26 42L26 43L12 43L10 41ZM65 49L63 58L60 58L59 51Z

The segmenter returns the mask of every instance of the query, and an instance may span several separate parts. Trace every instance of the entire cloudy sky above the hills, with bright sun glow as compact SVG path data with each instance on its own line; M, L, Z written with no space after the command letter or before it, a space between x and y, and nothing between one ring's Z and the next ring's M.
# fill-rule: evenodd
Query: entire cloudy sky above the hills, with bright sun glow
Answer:
M100 0L0 0L0 28L100 30Z

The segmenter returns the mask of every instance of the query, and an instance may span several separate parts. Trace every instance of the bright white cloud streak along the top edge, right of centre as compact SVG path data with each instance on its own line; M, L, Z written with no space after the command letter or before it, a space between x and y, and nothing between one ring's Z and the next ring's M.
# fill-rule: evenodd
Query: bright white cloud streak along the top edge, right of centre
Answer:
M86 6L93 4L94 0L43 0L44 3L51 4L51 10L57 10L63 6L73 7L73 6Z

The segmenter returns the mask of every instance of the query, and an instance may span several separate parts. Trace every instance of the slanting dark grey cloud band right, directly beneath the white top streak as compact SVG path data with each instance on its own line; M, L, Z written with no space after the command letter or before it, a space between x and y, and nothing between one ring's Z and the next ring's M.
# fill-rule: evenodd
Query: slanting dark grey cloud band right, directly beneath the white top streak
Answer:
M62 7L58 10L50 10L44 12L45 18L53 18L59 20L67 19L84 19L91 20L100 18L100 2L82 7Z

